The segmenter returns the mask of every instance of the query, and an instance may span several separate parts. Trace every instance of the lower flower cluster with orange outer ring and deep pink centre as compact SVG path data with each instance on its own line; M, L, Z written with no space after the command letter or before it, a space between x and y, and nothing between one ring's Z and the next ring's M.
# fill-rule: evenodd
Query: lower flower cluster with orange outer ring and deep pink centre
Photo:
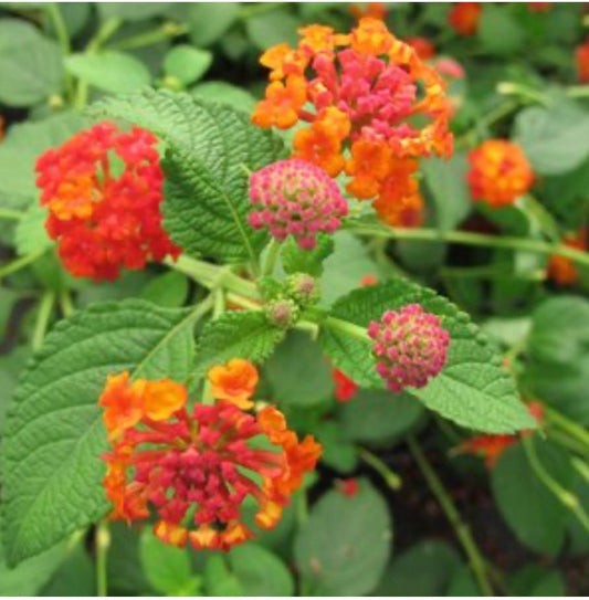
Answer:
M210 380L218 401L189 410L179 383L111 376L99 399L113 444L104 486L112 518L155 515L167 544L227 550L254 535L242 514L248 498L257 527L276 525L320 446L311 435L299 441L272 407L240 408L257 380L246 361L214 369Z

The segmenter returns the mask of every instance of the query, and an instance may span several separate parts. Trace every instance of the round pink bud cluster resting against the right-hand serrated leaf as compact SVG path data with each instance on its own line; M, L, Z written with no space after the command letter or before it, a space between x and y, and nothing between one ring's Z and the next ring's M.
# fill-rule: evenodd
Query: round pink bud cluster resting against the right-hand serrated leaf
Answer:
M377 371L396 393L408 386L422 388L445 365L450 335L419 304L387 310L380 322L370 323L368 335L375 340Z

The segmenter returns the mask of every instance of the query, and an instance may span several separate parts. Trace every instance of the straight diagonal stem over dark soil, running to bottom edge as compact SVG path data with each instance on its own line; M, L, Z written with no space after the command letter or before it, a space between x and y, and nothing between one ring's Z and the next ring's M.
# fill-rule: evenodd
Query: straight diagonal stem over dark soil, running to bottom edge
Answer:
M478 587L483 596L493 596L493 588L487 579L485 571L485 561L481 555L474 538L472 537L470 527L462 520L462 517L455 507L449 493L445 491L442 482L433 471L432 466L428 462L425 454L423 454L418 441L412 436L407 439L409 450L413 459L416 460L424 480L427 481L432 494L438 499L442 510L444 512L448 520L452 525L459 541L469 558L471 569L478 582Z

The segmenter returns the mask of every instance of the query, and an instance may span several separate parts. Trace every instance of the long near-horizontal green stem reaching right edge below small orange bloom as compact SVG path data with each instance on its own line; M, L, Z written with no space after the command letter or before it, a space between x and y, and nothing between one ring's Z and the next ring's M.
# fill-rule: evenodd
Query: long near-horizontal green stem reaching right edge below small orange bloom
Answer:
M589 254L564 244L553 244L526 238L497 236L469 231L440 231L437 229L391 228L385 224L359 224L348 222L345 228L359 235L379 235L391 240L421 240L425 242L446 242L464 245L526 250L539 254L559 255L589 265Z

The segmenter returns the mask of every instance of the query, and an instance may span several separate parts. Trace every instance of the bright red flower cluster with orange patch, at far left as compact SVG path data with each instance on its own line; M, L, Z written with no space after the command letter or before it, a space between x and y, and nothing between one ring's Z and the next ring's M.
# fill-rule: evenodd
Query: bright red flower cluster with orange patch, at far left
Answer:
M101 123L44 152L36 162L46 230L65 269L78 277L114 280L180 250L161 228L164 173L156 137Z

